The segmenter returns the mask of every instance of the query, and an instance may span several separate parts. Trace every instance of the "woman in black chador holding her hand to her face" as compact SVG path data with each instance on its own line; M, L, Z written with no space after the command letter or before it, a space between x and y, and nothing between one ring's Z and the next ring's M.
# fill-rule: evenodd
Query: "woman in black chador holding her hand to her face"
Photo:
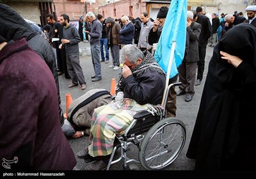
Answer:
M187 157L195 169L255 170L256 28L239 24L214 47Z

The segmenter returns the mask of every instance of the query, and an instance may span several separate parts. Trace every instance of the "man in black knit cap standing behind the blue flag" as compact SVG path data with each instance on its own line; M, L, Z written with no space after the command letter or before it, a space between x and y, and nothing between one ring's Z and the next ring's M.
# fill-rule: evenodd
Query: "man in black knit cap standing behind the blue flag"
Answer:
M159 12L157 13L156 20L154 20L153 27L148 34L149 45L153 45L153 43L157 43L159 41L168 10L169 8L167 6L162 6ZM178 74L170 78L169 84L176 82L177 78L178 78ZM177 109L176 98L177 98L177 93L175 91L175 86L172 86L168 93L168 99L166 103L166 117L176 116L176 109Z

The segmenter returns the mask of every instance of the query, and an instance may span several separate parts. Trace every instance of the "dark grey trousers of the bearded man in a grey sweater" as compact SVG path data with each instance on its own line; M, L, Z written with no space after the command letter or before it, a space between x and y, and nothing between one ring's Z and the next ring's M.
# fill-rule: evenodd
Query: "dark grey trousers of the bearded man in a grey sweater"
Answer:
M67 70L74 84L86 84L83 69L79 62L79 54L67 54Z

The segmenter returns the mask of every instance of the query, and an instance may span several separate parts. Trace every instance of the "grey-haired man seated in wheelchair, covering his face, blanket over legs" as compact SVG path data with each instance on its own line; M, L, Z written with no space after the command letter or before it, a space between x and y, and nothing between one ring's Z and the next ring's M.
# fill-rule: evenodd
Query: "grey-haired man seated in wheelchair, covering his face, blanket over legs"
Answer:
M79 159L95 159L86 170L106 169L116 134L124 134L134 114L161 104L163 98L165 73L150 52L125 45L120 51L120 63L124 66L118 84L124 98L115 98L110 104L95 109L90 145L77 153Z

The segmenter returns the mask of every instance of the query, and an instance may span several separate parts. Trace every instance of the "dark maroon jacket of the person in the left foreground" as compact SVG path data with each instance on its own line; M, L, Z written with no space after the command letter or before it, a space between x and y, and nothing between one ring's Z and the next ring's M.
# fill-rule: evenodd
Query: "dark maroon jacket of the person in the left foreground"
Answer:
M24 38L0 51L0 81L0 158L17 157L11 169L72 170L76 158L58 120L54 78Z

